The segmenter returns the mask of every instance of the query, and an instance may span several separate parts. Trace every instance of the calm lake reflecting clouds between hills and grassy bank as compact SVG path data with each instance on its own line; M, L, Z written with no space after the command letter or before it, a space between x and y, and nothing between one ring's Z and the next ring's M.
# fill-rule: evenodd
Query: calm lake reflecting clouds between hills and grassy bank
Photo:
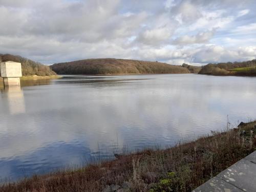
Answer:
M256 78L63 76L0 86L1 182L172 146L256 117Z

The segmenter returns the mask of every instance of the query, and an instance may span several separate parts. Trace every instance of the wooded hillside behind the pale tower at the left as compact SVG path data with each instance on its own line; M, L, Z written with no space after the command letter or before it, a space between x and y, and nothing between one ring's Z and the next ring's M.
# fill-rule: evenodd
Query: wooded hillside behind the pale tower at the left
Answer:
M22 75L37 75L37 76L56 75L56 73L53 72L49 66L42 65L39 62L35 62L21 56L11 55L11 54L0 54L0 60L22 63Z

